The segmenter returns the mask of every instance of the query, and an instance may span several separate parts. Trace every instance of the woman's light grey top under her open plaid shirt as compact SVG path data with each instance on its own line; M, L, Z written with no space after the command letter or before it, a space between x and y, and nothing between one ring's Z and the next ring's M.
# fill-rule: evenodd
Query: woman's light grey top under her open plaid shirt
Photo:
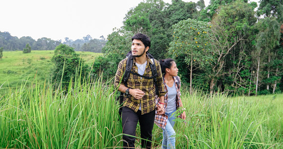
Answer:
M170 113L176 110L177 89L175 87L175 82L172 87L169 87L167 84L166 87L168 90L168 102L166 107L166 113Z

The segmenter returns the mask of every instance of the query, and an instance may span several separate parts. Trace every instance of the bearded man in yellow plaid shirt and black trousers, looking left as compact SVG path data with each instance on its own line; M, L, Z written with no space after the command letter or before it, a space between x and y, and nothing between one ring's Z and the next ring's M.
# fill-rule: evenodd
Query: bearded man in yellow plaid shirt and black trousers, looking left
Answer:
M150 149L155 109L157 109L160 114L164 113L165 89L161 67L157 60L151 60L147 55L149 48L150 39L148 36L140 33L134 35L132 37L131 47L133 65L126 84L124 83L123 76L129 57L119 63L115 75L114 85L118 87L119 91L124 93L122 109L123 134L126 134L123 135L124 149L135 148L135 137L132 136L135 136L138 122L140 124L142 148ZM150 63L155 64L157 86L155 86L154 79L152 78L153 73L150 68ZM140 76L135 74L139 74ZM159 93L156 93L155 87L158 87ZM161 106L156 107L156 95L161 99Z

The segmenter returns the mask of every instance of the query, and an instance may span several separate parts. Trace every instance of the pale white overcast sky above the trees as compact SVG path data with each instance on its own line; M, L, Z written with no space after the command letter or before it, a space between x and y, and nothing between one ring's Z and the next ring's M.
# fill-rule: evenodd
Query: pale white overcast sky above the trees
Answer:
M0 31L34 40L105 38L123 25L128 10L143 0L0 0ZM171 0L163 0L170 2ZM193 1L198 0L183 0ZM205 5L209 0L204 0Z

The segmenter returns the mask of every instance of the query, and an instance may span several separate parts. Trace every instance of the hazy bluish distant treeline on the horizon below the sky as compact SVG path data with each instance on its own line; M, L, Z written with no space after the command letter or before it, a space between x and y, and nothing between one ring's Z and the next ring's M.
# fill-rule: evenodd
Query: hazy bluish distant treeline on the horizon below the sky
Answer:
M83 37L83 39L73 41L66 37L63 44L73 47L75 51L100 53L102 47L106 43L103 36L100 38L101 39L92 39L90 35L87 35L86 37ZM9 32L0 31L0 47L2 47L4 51L23 50L26 44L30 45L31 50L54 50L55 47L61 43L62 40L55 41L46 37L39 38L37 41L29 36L18 38L16 36L11 36Z

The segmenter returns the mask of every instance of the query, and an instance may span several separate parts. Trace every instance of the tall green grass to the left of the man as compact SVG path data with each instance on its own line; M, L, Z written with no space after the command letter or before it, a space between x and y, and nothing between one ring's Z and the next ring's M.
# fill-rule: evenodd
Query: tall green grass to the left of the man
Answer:
M118 105L101 79L71 80L69 90L21 84L0 99L0 148L103 149L119 146ZM105 83L106 84L106 83Z

